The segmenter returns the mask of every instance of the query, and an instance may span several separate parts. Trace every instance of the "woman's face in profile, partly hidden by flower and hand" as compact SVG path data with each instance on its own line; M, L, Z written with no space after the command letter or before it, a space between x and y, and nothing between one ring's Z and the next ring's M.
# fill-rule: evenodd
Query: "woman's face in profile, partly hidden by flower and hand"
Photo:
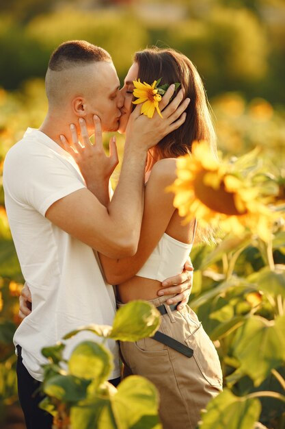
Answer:
M120 117L120 124L118 132L124 134L126 132L126 125L128 124L128 118L132 112L132 100L133 100L133 80L137 79L139 74L139 65L134 62L126 77L124 78L124 86L121 89L122 95L124 95L124 106L121 108L122 116Z

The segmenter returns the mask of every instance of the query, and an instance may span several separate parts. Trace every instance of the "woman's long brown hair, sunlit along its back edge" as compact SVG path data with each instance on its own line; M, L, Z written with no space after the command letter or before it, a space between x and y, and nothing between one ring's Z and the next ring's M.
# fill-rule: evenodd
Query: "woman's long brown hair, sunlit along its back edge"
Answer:
M159 158L176 158L191 153L193 140L208 141L211 151L216 154L216 135L204 85L189 58L174 49L153 47L135 53L134 61L139 66L138 77L141 82L152 84L159 78L159 86L180 82L178 90L184 88L185 98L191 99L185 110L185 123L165 136L155 147Z

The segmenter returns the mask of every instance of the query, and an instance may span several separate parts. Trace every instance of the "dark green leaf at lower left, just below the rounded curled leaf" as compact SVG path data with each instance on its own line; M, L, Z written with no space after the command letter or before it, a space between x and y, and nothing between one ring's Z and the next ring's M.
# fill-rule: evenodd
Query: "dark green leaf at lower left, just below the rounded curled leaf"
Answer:
M90 380L74 376L55 376L44 382L44 393L61 402L78 402L86 397Z

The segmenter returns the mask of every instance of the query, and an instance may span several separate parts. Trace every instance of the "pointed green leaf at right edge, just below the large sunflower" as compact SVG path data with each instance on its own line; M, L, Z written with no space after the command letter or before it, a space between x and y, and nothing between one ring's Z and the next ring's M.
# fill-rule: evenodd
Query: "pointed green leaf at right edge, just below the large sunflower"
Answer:
M256 284L256 289L259 291L269 293L274 297L281 295L285 298L285 267L282 265L275 267L274 271L269 267L264 267L258 273L249 275L247 280Z

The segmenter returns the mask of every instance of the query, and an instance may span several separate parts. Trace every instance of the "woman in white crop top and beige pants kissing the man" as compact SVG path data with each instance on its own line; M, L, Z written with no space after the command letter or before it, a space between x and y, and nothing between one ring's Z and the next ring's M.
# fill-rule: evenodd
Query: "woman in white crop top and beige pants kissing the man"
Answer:
M118 285L118 306L133 299L146 299L161 312L162 322L155 339L122 342L122 359L131 373L145 376L159 390L163 428L185 429L196 427L200 410L221 391L222 378L215 347L193 310L186 306L177 311L177 306L165 304L169 296L157 298L161 281L182 271L196 224L193 219L190 224L182 225L173 206L174 195L165 192L165 188L176 178L176 158L191 153L193 140L207 140L209 149L215 153L215 132L198 72L187 57L172 49L145 49L135 54L122 88L125 103L120 132L126 130L131 114L133 81L140 79L152 84L159 78L160 85L180 82L185 98L191 99L187 119L149 151L137 253L120 260L100 255L100 261L107 281ZM87 168L86 163L79 167L90 182L92 160Z

